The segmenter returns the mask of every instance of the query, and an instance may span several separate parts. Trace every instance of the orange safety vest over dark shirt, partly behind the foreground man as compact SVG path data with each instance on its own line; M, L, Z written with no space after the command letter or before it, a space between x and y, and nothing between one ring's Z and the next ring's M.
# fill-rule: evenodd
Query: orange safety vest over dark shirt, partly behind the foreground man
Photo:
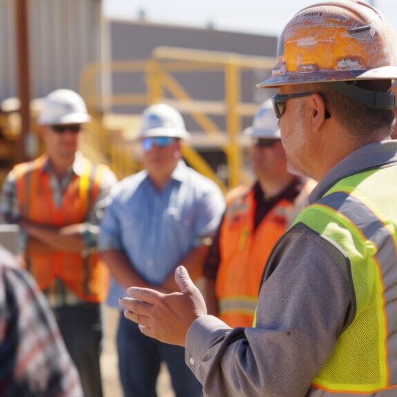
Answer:
M295 203L302 203L313 188L308 181ZM255 315L264 266L277 240L295 219L295 203L281 199L254 230L255 196L252 188L237 187L231 192L221 225L221 263L215 291L219 318L235 328L249 327Z

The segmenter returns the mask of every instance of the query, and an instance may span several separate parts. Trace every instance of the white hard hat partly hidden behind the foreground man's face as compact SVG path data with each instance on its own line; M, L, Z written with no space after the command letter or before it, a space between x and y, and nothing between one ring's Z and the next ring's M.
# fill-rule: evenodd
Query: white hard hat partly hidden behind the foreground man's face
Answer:
M281 135L277 122L272 100L269 99L259 107L252 127L244 129L243 133L252 138L280 139Z

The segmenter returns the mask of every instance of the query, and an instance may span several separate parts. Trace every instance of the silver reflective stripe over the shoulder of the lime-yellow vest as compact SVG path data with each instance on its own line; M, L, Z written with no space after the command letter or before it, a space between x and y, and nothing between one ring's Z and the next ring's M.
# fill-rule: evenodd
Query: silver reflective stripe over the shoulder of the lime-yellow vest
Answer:
M382 281L385 286L389 385L397 385L397 257L394 237L369 207L345 192L331 193L317 203L331 207L346 216L361 230L364 237L375 243L378 248L376 259L380 264ZM391 205L397 205L397 198L396 203L391 203ZM324 396L328 395L324 394ZM380 395L373 394L373 396ZM397 396L397 389L391 395ZM338 394L338 396L342 395ZM366 396L371 396L371 394ZM382 396L384 395L382 394ZM389 396L389 394L385 394L385 396Z

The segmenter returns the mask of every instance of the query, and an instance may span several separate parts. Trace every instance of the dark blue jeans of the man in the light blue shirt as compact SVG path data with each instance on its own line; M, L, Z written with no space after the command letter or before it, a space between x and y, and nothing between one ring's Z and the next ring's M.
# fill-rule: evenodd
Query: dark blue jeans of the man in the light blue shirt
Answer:
M165 361L176 397L202 396L202 387L185 364L185 349L143 335L120 315L117 335L120 379L125 397L156 397L160 363Z

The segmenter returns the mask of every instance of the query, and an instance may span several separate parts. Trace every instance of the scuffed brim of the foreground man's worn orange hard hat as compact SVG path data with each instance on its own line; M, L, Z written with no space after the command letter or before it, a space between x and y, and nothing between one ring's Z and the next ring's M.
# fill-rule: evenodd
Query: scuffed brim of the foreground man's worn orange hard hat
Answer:
M287 84L307 84L342 82L351 80L395 80L397 79L397 66L382 66L369 71L318 71L301 73L284 73L278 77L270 77L268 80L257 84L257 88L270 89Z

